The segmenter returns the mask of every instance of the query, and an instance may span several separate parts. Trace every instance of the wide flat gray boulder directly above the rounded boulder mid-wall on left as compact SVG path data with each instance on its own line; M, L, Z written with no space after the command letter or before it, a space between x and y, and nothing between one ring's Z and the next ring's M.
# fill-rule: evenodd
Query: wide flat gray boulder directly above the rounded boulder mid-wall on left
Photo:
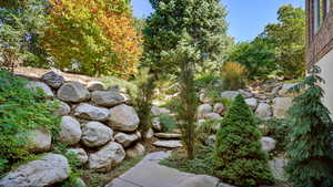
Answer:
M81 103L75 108L74 115L79 118L103 122L108 120L110 111L104 107L98 107L88 103Z

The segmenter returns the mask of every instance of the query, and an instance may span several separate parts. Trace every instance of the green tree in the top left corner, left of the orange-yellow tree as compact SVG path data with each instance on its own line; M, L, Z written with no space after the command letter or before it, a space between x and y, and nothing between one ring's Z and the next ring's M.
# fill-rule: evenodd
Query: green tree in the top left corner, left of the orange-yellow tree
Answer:
M44 65L46 51L40 38L47 25L46 1L20 0L0 3L0 54L1 65L14 66L18 61L28 65Z

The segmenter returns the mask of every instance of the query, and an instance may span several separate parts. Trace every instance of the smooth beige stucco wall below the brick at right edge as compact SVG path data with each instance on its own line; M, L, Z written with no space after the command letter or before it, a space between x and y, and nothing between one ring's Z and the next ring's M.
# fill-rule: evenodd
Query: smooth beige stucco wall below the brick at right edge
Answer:
M333 116L333 50L331 50L330 53L321 59L317 64L322 67L321 76L326 82L326 84L323 86L325 91L324 103Z

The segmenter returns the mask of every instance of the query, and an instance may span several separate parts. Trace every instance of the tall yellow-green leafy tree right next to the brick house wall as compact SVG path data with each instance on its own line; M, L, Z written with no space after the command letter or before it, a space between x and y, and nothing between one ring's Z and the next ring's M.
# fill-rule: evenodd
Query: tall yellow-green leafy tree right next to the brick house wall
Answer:
M268 24L264 34L275 45L276 63L287 79L305 74L305 11L291 4L278 11L278 23Z

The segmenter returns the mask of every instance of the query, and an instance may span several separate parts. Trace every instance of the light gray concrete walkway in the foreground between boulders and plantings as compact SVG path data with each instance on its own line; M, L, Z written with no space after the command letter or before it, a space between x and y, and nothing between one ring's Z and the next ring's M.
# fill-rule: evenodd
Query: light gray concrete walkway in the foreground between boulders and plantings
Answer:
M147 155L137 166L112 180L105 187L223 187L219 179L205 175L179 172L159 165L170 152Z

